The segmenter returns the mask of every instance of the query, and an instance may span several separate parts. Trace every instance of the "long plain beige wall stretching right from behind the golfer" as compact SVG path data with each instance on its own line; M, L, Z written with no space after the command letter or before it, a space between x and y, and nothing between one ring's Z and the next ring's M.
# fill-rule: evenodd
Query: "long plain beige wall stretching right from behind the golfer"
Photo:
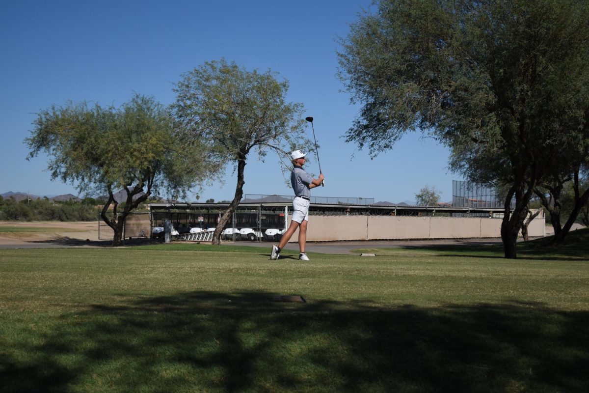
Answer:
M290 219L290 217L289 217ZM545 236L544 217L530 226L530 236ZM501 219L409 216L310 216L307 241L379 239L461 239L501 237ZM290 242L298 242L298 230Z

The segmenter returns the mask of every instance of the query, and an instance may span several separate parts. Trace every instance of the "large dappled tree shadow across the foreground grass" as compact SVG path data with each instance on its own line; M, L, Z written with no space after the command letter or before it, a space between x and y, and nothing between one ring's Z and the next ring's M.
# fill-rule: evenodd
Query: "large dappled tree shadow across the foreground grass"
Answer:
M589 391L589 312L518 300L379 308L184 292L47 326L4 340L2 391Z

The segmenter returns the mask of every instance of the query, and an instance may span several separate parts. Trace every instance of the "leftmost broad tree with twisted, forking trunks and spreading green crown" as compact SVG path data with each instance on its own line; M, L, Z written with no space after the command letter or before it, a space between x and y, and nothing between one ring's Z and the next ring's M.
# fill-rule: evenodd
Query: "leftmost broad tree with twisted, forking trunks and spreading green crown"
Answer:
M25 140L28 158L44 151L52 179L74 184L80 193L108 195L100 216L123 236L125 218L157 189L171 196L206 179L214 166L198 144L180 144L170 110L151 97L135 94L120 108L68 103L42 110ZM123 189L122 209L114 194ZM112 210L110 208L112 207Z

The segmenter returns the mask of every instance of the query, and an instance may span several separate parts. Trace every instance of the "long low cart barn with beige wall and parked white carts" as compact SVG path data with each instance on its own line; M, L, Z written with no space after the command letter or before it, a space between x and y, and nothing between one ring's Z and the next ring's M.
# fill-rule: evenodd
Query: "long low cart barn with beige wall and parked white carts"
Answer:
M290 196L246 195L227 226L226 238L235 240L275 241L292 214ZM178 238L208 240L193 233L214 228L229 203L151 203L147 217L130 219L125 231L153 233L155 227L170 220ZM312 197L309 208L307 241L392 240L392 239L458 239L500 237L503 209L481 206L379 206L372 198ZM143 224L134 223L141 220ZM133 227L133 230L131 230ZM233 229L233 230L231 230ZM148 232L149 231L149 232ZM241 234L240 234L241 232ZM540 214L528 226L531 237L545 236L545 217ZM186 235L188 234L188 235ZM296 242L296 233L292 236Z

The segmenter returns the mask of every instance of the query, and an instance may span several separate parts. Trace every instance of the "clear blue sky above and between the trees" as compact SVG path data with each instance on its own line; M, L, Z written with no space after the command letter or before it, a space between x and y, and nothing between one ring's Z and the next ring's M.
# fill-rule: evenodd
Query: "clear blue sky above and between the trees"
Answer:
M78 194L51 181L47 157L27 161L23 143L35 113L68 100L120 105L136 92L164 104L173 82L205 61L268 68L290 82L289 101L315 118L326 187L314 196L402 202L429 184L452 199L448 150L407 134L371 160L342 135L358 114L337 80L337 38L370 0L307 1L8 1L0 2L0 193ZM312 138L309 127L309 137ZM316 161L309 166L318 173ZM247 194L286 194L277 158L246 166ZM201 201L233 198L236 179L207 187ZM194 196L194 193L191 194ZM194 198L190 198L194 200Z

